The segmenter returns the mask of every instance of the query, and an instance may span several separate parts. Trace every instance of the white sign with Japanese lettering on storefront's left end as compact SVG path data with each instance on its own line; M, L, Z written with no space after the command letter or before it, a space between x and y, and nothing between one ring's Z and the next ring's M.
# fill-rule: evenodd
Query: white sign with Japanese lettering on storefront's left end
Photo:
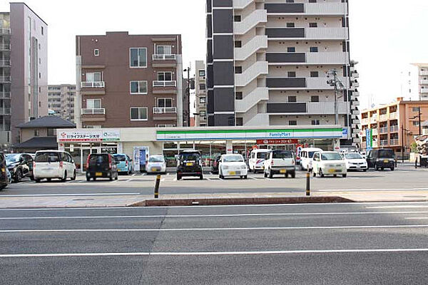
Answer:
M118 142L121 132L114 129L60 130L56 137L58 142Z

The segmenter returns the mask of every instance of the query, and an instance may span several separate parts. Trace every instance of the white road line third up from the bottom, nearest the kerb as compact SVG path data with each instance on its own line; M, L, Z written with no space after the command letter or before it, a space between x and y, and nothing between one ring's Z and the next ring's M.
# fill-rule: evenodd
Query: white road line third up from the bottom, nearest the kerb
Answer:
M333 216L333 215L365 215L365 214L428 214L428 212L327 212L327 213L263 213L263 214L153 214L153 215L121 215L121 216L55 216L55 217L0 217L10 219L151 219L151 218L205 218L205 217L281 217L281 216ZM406 218L406 219L428 219Z

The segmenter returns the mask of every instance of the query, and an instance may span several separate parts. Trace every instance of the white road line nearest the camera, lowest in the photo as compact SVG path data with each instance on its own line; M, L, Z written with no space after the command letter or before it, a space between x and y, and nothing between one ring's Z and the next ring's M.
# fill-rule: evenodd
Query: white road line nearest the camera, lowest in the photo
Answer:
M320 250L277 250L260 252L86 252L62 254L0 254L0 258L29 257L143 257L143 256L208 256L208 255L273 255L273 254L352 254L385 252L428 252L428 249L320 249Z

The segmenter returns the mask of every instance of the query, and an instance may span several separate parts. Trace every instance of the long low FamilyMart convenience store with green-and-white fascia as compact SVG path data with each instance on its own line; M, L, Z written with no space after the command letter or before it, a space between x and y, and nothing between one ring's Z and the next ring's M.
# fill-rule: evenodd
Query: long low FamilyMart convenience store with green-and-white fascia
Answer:
M148 155L163 154L168 167L175 167L180 150L199 150L203 166L210 167L223 153L247 155L254 148L296 150L297 147L339 147L342 128L337 126L116 128L58 130L58 148L73 155L84 170L89 153L126 153L135 170L143 170Z

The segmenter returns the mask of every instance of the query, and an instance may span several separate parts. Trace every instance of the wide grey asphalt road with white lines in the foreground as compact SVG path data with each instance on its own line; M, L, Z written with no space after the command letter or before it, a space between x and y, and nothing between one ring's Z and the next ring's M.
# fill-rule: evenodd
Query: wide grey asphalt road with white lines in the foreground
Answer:
M0 209L1 284L426 284L428 203Z

